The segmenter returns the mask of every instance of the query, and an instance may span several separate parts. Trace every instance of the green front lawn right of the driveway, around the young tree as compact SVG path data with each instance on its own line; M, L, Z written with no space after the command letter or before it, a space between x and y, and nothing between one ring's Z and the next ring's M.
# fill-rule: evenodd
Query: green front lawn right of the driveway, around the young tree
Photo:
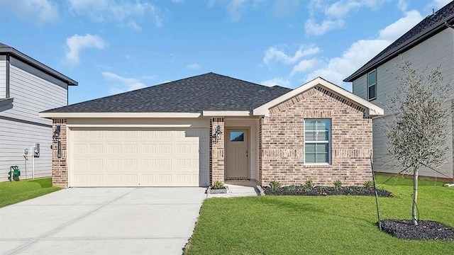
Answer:
M389 176L377 176L382 183ZM454 188L419 182L421 220L454 227ZM382 219L410 219L412 180L383 186ZM454 242L408 241L380 232L375 198L365 196L261 196L210 198L186 254L452 254Z

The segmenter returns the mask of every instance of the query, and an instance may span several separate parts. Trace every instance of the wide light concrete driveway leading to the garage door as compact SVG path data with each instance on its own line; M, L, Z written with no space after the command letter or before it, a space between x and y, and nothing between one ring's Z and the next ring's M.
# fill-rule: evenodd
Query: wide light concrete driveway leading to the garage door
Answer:
M182 254L204 188L70 188L0 208L0 254Z

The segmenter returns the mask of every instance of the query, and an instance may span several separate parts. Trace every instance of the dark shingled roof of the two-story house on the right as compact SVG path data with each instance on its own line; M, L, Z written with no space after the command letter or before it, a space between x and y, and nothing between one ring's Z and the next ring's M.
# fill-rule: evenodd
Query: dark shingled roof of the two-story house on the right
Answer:
M399 39L392 42L391 45L386 47L382 52L378 53L377 56L373 57L372 60L363 65L356 72L345 78L343 81L349 82L362 76L366 72L370 72L380 64L387 62L388 60L396 57L397 55L409 50L411 47L418 45L419 43L427 40L436 33L441 32L444 29L448 29L445 26L445 21L448 24L454 23L454 1L445 5L440 10L436 11L426 18L423 19L416 26L411 28L408 32L402 35Z

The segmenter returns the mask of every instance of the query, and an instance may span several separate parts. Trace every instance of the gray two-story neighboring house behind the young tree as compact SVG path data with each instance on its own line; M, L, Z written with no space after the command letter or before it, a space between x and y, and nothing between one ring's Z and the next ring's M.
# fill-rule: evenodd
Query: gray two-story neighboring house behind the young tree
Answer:
M447 25L446 25L447 24ZM353 94L365 98L385 109L383 116L374 120L374 168L376 171L396 173L394 164L387 162L387 138L378 128L380 118L391 120L387 111L387 96L392 96L399 85L395 79L399 72L397 64L402 64L402 58L410 61L414 67L428 71L441 66L443 82L453 85L454 91L454 1L427 16L414 28L389 45L372 60L344 81L353 82ZM446 107L450 107L449 101ZM422 169L421 176L453 179L453 118L448 120L449 132L447 146L450 148L449 162L443 166L441 173L430 169ZM387 164L385 164L387 163Z

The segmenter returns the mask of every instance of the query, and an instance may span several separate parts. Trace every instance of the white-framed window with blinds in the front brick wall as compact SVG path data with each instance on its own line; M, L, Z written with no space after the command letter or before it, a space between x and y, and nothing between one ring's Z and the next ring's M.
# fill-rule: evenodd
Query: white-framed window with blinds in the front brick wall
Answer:
M304 163L329 164L331 120L304 121Z

